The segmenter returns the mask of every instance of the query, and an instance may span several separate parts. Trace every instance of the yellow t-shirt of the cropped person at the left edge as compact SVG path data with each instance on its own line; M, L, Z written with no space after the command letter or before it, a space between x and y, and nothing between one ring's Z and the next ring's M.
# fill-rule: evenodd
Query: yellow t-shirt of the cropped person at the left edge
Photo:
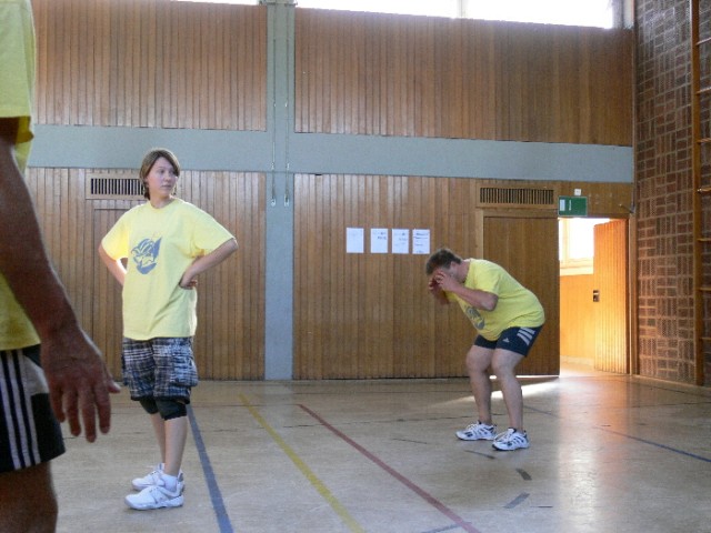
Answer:
M24 172L34 97L34 26L29 0L0 0L0 118L20 120L14 155ZM0 350L38 343L34 328L0 274Z

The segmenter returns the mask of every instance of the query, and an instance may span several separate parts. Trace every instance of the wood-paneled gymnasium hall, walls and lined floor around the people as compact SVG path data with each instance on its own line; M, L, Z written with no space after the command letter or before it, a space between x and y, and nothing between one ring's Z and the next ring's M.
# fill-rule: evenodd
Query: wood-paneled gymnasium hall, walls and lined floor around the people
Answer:
M711 1L337 3L32 0L27 180L117 381L97 248L143 154L239 243L198 289L184 505L124 505L159 461L124 389L109 434L64 429L58 531L711 532ZM454 435L475 332L428 293L440 247L545 309L529 449Z

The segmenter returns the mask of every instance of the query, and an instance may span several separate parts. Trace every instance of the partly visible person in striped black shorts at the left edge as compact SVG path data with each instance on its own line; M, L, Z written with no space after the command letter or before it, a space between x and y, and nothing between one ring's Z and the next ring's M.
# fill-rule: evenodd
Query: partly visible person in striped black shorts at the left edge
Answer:
M119 392L51 265L24 170L32 133L29 0L0 0L0 531L53 532L50 461L59 422L87 441L111 425Z

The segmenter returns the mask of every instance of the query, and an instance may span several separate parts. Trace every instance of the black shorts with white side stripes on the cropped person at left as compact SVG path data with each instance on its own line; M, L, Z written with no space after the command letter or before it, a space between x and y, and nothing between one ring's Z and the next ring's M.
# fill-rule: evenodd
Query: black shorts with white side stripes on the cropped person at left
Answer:
M0 351L0 472L12 472L64 453L49 402L40 346Z

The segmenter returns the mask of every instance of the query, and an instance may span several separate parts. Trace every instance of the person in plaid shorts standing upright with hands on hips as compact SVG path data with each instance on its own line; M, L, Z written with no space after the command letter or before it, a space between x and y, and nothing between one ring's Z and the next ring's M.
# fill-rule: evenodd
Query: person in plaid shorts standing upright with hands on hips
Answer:
M150 414L161 454L153 472L132 481L140 492L126 496L127 505L143 511L183 504L186 405L198 384L197 278L232 254L237 241L208 213L173 195L180 164L171 151L149 151L139 175L148 202L118 220L99 255L123 285L123 381Z

